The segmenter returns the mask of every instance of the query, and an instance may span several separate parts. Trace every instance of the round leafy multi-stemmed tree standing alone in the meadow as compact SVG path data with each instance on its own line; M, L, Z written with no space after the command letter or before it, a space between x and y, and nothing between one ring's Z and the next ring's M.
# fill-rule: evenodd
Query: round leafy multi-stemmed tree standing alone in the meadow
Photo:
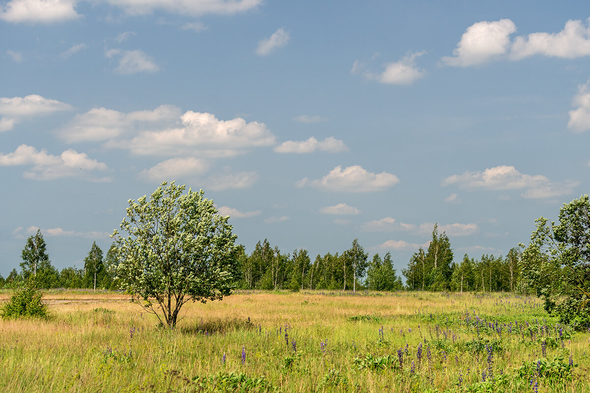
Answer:
M120 288L160 323L173 328L189 300L221 300L237 277L236 236L203 190L164 181L149 200L129 200L127 217L114 230Z

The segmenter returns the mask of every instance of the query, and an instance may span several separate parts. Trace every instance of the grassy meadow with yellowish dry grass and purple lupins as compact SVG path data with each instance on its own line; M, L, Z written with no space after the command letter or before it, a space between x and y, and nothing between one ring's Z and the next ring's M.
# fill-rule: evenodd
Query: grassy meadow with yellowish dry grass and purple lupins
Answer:
M536 298L238 292L173 331L118 293L44 299L47 321L0 321L2 392L590 391L590 333Z

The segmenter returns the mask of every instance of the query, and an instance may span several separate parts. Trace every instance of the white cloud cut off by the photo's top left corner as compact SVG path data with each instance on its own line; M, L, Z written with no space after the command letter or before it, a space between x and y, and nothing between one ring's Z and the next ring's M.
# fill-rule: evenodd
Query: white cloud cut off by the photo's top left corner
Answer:
M11 0L0 5L0 19L7 22L54 23L76 19L76 0Z

